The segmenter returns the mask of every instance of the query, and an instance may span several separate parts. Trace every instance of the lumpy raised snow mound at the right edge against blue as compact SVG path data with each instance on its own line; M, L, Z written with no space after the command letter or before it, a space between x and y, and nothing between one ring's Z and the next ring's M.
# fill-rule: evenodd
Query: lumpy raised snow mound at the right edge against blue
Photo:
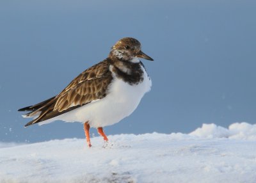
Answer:
M256 124L233 123L228 129L214 123L203 124L202 127L189 133L200 138L230 138L230 139L256 139Z

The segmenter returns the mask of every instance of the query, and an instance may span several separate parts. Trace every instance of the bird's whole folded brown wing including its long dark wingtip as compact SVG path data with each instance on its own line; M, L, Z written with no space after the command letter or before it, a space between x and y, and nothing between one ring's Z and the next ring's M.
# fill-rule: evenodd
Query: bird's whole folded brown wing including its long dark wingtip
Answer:
M109 71L109 61L104 60L84 70L55 97L54 102L40 107L40 115L25 126L42 122L55 116L67 113L77 107L99 100L106 96L113 77ZM33 111L36 113L37 111Z

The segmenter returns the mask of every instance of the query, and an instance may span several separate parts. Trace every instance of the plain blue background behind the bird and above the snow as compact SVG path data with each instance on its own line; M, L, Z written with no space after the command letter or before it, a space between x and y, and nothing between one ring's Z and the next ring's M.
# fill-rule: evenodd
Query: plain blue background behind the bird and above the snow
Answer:
M106 134L256 122L256 1L0 1L0 141L84 138L81 123L24 128L17 109L57 95L131 36L152 90ZM97 136L97 131L92 129Z

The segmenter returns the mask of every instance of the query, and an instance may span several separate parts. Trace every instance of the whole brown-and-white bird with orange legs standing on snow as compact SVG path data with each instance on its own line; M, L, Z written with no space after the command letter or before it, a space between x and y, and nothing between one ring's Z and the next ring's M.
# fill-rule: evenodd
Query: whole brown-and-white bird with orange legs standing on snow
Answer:
M141 51L136 38L118 40L111 47L108 58L84 70L58 95L19 109L29 111L22 115L24 118L33 118L25 127L56 120L81 122L88 147L92 147L90 127L96 128L108 142L103 127L131 115L151 89L152 81L140 58L153 61Z

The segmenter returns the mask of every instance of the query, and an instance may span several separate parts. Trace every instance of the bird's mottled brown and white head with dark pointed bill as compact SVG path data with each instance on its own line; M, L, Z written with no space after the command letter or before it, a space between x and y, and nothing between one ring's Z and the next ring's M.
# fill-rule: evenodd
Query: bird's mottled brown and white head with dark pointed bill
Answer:
M122 61L130 61L132 63L138 63L138 58L144 58L146 60L152 60L147 54L141 51L141 44L134 38L122 38L111 48L109 58L118 59Z

